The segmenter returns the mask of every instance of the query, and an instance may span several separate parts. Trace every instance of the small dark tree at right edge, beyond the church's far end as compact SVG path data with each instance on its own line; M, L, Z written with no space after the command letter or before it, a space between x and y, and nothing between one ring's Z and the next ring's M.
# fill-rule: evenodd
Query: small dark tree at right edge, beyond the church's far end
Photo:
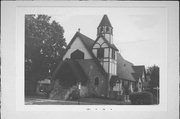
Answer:
M149 86L150 88L159 87L159 67L154 65L147 69L147 73L150 75Z

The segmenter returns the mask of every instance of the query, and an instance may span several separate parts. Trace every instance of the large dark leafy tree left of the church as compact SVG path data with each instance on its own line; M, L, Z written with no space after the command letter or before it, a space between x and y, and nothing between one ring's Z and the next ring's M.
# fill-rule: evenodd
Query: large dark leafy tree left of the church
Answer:
M25 80L35 85L37 80L51 76L67 46L64 29L47 15L25 15ZM30 83L31 82L31 83ZM30 86L31 88L34 88Z

